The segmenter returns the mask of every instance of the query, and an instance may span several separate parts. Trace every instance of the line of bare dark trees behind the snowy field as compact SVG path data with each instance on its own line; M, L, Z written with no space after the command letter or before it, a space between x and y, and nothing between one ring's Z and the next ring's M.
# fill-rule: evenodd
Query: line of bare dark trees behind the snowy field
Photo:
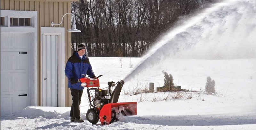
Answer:
M88 56L140 57L180 16L214 0L80 0L72 3L76 28L72 51L84 43Z

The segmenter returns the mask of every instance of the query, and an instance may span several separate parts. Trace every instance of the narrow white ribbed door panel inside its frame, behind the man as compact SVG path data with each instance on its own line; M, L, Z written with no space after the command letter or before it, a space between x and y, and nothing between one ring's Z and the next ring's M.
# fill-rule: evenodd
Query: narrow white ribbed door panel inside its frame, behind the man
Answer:
M42 35L42 106L57 106L57 35Z

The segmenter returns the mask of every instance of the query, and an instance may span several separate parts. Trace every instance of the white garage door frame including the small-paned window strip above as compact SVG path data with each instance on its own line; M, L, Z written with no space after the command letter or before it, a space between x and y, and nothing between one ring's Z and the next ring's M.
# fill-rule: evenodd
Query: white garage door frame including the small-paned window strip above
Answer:
M37 106L37 11L1 10L1 17L5 17L5 26L1 26L1 33L32 33L28 46L28 106ZM30 27L11 27L10 18L31 18Z

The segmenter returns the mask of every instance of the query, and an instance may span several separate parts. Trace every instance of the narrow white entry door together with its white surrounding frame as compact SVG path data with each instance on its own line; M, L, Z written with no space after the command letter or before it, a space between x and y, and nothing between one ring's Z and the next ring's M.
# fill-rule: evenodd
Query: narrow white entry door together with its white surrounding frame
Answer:
M65 28L41 27L41 106L65 107Z

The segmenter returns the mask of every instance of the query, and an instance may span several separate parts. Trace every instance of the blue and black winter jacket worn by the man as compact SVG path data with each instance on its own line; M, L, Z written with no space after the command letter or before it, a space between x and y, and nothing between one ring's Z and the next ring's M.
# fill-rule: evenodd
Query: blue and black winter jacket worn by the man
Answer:
M77 80L84 77L83 74L84 76L89 75L91 78L95 77L94 73L92 72L92 66L89 58L84 54L81 59L77 51L75 51L73 55L68 58L65 68L65 75L68 77L68 88L83 90L84 87L81 87L81 83L76 83L73 85L70 83L70 78Z

